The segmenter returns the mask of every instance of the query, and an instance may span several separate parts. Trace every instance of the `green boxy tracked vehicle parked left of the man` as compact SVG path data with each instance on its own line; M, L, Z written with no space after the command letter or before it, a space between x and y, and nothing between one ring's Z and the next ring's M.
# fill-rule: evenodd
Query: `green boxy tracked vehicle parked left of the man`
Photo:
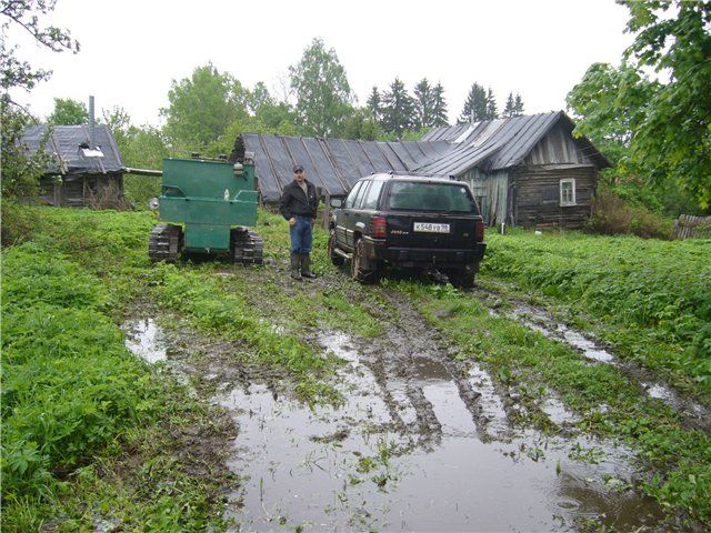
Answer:
M161 195L151 201L162 222L151 230L152 262L176 262L190 254L227 255L236 263L261 264L262 239L257 224L254 162L227 159L166 159Z

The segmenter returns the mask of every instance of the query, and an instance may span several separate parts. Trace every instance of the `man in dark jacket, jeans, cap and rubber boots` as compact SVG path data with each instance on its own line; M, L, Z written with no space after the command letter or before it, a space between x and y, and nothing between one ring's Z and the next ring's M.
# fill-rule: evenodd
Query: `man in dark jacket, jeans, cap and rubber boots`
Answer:
M291 278L316 278L311 273L311 228L316 221L319 197L313 183L307 181L303 167L293 165L293 181L284 187L279 202L279 212L289 221L291 234Z

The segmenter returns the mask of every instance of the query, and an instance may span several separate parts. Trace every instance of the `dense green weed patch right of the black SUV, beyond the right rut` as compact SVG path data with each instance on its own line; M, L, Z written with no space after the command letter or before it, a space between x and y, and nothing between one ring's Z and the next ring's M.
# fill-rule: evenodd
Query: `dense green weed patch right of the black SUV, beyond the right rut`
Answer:
M711 241L490 234L482 273L572 304L650 368L711 392Z

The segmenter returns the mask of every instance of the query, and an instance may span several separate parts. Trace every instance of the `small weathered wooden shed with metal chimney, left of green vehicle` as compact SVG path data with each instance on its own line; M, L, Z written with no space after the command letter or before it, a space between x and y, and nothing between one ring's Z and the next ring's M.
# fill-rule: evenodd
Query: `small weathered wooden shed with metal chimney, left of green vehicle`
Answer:
M51 205L119 208L124 205L126 165L106 124L38 124L24 130L30 153L51 157L40 179L40 199Z

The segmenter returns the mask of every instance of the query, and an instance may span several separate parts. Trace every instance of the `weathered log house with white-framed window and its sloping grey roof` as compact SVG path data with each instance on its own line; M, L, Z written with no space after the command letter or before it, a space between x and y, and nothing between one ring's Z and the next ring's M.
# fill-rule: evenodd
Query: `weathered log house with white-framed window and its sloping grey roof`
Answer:
M581 228L610 162L562 111L438 128L452 150L420 169L470 183L489 225Z

